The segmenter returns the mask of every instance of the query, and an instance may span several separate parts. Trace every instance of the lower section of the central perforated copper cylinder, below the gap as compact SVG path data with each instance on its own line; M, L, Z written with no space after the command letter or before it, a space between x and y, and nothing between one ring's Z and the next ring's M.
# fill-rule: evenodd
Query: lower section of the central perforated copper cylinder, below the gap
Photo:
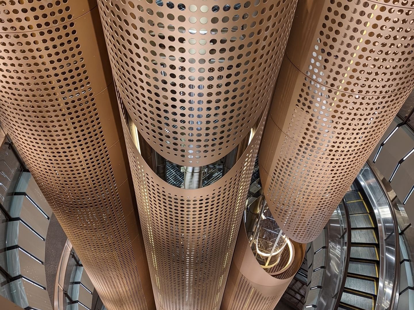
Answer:
M124 124L157 309L219 308L264 115L236 165L218 181L198 189L177 188L161 180Z

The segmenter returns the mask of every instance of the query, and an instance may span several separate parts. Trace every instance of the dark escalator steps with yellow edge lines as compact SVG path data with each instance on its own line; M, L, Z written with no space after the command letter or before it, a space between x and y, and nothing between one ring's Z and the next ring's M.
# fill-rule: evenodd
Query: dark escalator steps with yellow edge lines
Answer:
M351 248L342 310L373 310L378 293L379 244L373 209L355 182L344 197L351 223Z

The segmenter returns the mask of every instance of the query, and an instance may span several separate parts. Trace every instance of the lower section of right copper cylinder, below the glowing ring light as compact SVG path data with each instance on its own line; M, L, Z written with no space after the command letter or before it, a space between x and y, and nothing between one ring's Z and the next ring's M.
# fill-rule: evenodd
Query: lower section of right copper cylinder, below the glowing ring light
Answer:
M273 310L290 281L301 267L305 244L293 242L292 262L286 270L272 277L258 263L248 243L244 224L240 228L236 249L224 291L221 310ZM288 247L286 246L286 250ZM287 262L289 258L280 261ZM278 265L284 265L279 264Z

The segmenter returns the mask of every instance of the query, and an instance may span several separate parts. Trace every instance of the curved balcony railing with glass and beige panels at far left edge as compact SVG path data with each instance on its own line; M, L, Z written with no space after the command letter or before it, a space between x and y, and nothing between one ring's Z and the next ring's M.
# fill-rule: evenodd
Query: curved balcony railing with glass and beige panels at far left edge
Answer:
M24 309L53 309L45 271L51 214L0 127L0 295Z

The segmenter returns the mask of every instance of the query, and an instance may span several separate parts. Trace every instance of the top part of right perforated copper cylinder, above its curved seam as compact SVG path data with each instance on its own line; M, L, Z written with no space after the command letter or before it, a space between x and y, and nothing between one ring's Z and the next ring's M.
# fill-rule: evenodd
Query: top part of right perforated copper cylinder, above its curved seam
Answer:
M385 95L414 86L412 1L305 0L289 60L332 90Z

